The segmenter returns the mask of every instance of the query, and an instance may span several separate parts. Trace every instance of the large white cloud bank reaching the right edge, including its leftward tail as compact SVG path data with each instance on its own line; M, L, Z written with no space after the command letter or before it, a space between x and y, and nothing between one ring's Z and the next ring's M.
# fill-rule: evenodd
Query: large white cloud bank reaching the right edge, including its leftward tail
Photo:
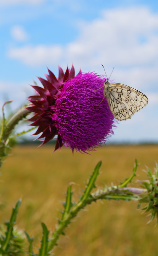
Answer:
M129 67L157 62L158 14L145 7L106 10L100 19L82 22L79 28L80 34L75 41L65 47L43 45L43 50L51 54L51 48L57 47L58 63L73 62L83 68L96 68L102 63L105 66ZM10 49L9 56L28 65L51 63L49 54L41 58L39 48L40 45ZM28 49L32 51L32 62L28 61ZM59 49L62 54L59 54Z

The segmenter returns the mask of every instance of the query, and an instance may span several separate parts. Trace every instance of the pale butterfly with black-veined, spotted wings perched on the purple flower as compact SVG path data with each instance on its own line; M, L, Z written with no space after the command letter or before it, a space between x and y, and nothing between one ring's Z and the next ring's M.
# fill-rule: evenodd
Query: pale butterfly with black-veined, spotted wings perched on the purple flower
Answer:
M147 96L124 84L110 84L105 80L104 94L114 117L127 120L147 105Z

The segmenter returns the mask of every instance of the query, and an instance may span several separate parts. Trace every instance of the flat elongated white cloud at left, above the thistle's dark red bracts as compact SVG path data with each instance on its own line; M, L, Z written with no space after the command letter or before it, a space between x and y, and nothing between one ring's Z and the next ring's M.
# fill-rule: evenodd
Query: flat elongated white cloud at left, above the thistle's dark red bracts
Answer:
M8 56L18 59L22 63L29 66L40 66L48 64L56 64L62 56L62 48L58 45L53 46L24 46L21 48L12 48L8 52Z

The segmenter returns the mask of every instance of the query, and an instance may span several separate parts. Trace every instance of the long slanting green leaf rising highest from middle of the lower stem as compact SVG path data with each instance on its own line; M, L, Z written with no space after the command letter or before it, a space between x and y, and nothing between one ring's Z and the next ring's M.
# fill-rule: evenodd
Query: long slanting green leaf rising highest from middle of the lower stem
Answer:
M88 198L88 196L90 195L91 190L96 187L95 186L95 181L96 181L97 176L99 174L99 169L100 169L101 165L102 165L102 162L99 161L97 163L96 167L94 168L94 171L93 171L92 175L90 176L89 182L86 186L86 189L85 189L85 191L83 193L83 196L81 197L80 201L86 200Z

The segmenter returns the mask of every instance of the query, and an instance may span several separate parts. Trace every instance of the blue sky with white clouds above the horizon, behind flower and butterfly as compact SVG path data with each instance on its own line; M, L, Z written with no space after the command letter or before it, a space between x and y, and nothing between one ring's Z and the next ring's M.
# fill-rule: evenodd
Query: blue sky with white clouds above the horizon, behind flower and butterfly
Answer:
M0 0L0 108L27 102L47 67L58 76L72 63L76 74L114 67L111 80L148 97L109 142L158 142L157 1Z

